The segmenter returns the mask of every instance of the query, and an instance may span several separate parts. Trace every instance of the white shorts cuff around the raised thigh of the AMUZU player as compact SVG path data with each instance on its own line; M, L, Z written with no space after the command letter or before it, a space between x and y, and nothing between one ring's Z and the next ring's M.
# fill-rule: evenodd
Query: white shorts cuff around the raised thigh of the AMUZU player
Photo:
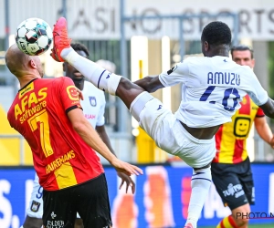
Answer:
M145 104L153 99L154 97L149 94L148 92L144 91L139 94L134 100L132 101L130 112L137 121L140 121L140 113L144 108Z

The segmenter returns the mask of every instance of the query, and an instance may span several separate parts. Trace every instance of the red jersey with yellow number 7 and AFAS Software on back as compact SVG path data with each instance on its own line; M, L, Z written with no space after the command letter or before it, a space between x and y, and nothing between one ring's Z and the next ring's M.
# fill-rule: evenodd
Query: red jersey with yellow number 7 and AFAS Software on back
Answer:
M32 150L39 183L47 191L90 181L103 172L99 157L68 119L68 111L79 108L70 78L37 78L18 91L8 111L11 127Z

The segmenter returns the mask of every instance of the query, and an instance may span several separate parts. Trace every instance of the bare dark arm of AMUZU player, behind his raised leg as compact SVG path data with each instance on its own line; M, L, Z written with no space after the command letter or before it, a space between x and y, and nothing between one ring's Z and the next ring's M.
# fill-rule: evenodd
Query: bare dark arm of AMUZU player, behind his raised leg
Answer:
M159 80L159 76L147 76L135 81L134 84L138 85L149 93L153 93L156 90L163 88L163 84Z

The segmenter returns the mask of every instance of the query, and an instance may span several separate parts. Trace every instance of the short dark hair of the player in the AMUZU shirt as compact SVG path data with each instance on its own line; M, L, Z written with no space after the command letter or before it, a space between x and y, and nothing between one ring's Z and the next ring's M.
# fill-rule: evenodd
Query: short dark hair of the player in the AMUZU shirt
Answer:
M202 41L207 41L209 45L231 45L231 31L226 23L221 21L214 21L204 27Z

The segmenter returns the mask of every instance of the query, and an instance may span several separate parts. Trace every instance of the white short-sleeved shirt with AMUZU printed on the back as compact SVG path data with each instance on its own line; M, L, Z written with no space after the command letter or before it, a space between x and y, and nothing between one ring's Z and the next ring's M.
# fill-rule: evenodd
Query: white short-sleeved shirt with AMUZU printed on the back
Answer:
M175 117L192 128L230 122L247 93L258 106L269 99L252 69L229 57L188 57L159 79L164 87L183 83Z

